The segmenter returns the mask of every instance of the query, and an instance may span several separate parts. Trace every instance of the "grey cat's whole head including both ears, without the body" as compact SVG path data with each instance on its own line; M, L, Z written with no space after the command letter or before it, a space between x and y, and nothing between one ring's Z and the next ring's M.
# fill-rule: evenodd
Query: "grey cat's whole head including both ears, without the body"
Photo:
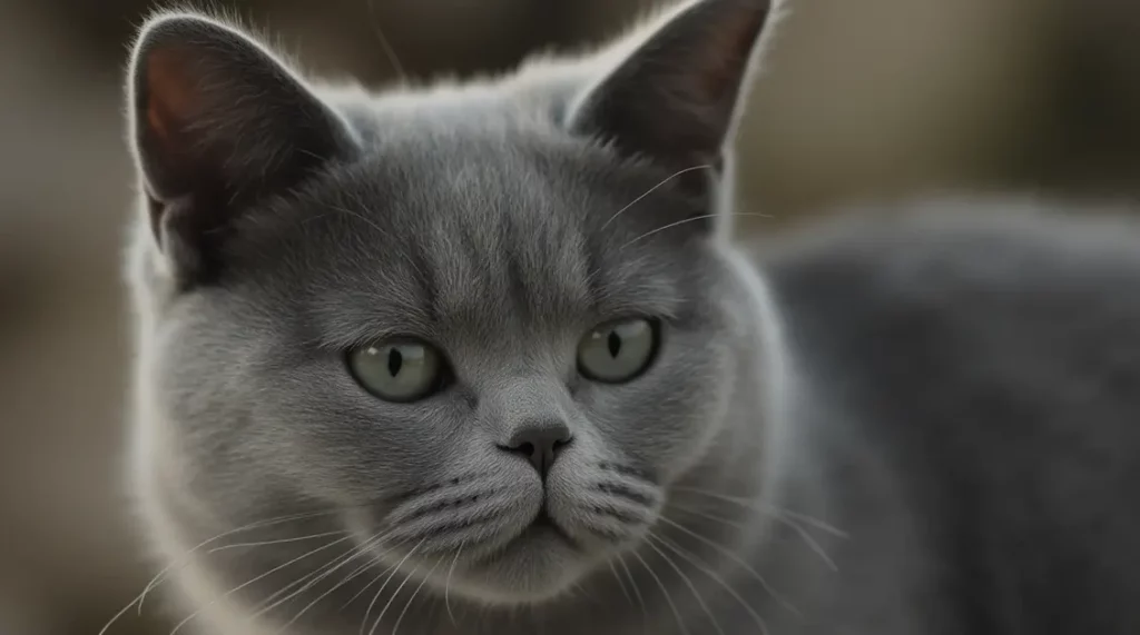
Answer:
M129 85L142 487L213 528L325 514L499 603L641 544L716 461L755 354L717 234L768 5L373 97L219 22L150 20Z

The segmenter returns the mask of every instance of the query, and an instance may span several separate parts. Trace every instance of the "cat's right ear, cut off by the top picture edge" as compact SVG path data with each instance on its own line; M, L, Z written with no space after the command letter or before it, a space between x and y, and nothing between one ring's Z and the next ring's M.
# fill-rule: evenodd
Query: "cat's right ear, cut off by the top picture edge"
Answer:
M621 57L571 107L571 130L673 170L719 167L775 2L681 5L608 53Z

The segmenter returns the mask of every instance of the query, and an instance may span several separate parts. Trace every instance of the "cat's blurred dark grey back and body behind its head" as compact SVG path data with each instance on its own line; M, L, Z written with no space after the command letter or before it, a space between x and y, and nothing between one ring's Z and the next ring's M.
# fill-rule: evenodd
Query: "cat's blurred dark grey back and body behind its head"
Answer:
M933 204L766 254L829 424L897 475L971 632L1140 632L1140 223Z

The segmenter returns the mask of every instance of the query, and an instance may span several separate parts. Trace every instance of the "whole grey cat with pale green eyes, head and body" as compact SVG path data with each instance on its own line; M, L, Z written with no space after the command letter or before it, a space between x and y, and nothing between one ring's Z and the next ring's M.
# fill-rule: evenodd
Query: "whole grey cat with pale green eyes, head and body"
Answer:
M1140 633L1140 228L931 204L754 255L772 13L384 94L147 23L131 486L178 630Z

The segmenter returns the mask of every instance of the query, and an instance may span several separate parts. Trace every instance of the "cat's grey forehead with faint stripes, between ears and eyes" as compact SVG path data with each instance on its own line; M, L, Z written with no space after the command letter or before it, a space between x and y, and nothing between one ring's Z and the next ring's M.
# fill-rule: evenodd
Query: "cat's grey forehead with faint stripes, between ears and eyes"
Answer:
M627 183L598 148L555 133L416 125L376 139L302 201L316 220L291 242L308 255L321 331L462 324L498 337L681 310L669 254L625 246L640 230L606 225L652 181Z

